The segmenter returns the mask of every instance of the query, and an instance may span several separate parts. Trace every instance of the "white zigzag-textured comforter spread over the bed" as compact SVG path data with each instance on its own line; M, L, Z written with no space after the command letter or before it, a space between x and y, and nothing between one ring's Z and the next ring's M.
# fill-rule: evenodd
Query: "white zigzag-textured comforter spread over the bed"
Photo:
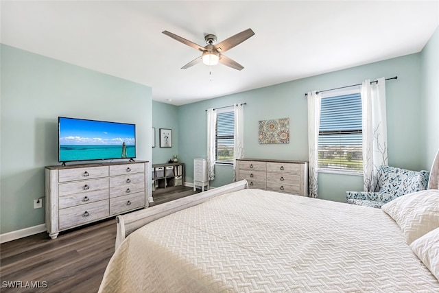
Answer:
M244 189L132 233L99 292L439 292L381 209Z

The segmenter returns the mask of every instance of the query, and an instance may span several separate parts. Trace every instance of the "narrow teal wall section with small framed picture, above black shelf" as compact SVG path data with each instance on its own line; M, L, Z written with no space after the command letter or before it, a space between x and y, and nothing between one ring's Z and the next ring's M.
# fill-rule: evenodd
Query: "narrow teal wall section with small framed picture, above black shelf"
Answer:
M156 128L156 147L152 148L152 163L167 163L178 155L178 106L152 101L152 127ZM160 148L160 128L172 130L172 148Z

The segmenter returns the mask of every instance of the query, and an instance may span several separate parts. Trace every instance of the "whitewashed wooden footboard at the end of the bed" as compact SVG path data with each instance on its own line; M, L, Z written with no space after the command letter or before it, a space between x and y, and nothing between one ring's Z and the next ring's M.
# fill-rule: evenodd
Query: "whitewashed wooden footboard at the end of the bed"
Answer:
M141 211L134 211L125 215L118 215L116 217L117 235L115 250L123 242L123 239L125 239L128 235L130 235L130 233L138 228L145 226L145 224L160 219L165 215L175 213L176 211L193 207L197 204L205 202L206 200L209 200L210 198L214 198L215 196L228 194L233 191L247 188L247 181L241 180L236 183L230 183L228 185L210 189L209 191L204 191L199 194L193 194L192 196L186 196L185 198L165 202L164 204L159 204Z

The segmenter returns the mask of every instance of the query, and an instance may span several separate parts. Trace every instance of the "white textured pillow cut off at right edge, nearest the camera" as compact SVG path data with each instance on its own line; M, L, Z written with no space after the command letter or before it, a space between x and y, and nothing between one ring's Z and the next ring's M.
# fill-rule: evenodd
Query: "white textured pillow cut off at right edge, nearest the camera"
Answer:
M416 239L410 248L439 280L439 228Z

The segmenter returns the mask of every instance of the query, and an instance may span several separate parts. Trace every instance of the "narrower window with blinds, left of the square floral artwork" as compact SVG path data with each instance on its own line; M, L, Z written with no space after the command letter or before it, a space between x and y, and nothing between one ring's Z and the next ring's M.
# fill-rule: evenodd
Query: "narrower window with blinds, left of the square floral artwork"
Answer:
M235 145L235 113L233 108L217 110L215 163L233 164Z

